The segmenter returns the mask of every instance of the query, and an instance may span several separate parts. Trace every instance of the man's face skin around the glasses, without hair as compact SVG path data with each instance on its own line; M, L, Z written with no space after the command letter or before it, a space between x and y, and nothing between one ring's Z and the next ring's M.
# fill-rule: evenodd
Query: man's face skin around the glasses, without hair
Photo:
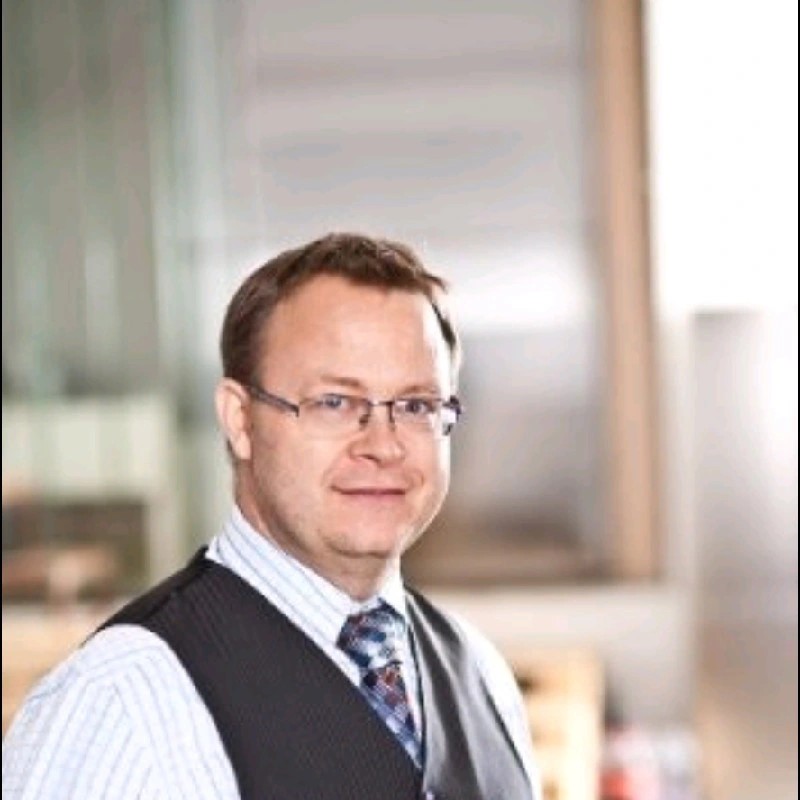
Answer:
M327 392L377 400L452 393L436 316L409 292L314 278L275 309L263 352L263 388L295 403ZM444 499L448 441L394 428L385 408L335 438L310 436L291 413L251 399L244 415L243 511L334 583L343 573L383 574Z

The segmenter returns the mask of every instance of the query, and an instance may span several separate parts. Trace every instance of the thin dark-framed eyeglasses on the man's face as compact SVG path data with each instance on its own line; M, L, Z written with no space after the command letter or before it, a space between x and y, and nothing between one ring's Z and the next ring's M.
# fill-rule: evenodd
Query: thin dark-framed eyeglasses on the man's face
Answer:
M292 403L267 392L260 386L244 385L247 393L260 403L294 414L309 436L336 438L363 430L379 406L386 406L393 428L431 433L436 437L449 436L463 413L455 396L398 397L395 400L370 400L368 397L326 392Z

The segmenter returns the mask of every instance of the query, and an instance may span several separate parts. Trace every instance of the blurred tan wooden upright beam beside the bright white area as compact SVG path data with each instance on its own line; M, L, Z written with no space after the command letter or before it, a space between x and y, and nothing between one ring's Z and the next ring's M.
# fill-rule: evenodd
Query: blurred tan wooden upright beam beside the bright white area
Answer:
M639 0L597 0L594 11L610 567L614 578L641 580L654 578L660 561L642 8Z

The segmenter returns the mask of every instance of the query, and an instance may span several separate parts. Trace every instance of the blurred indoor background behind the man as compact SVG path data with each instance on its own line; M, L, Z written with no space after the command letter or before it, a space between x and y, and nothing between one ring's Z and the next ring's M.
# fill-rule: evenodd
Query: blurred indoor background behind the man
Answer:
M329 230L464 336L407 571L548 800L797 797L797 9L3 1L3 727L217 531L225 304Z

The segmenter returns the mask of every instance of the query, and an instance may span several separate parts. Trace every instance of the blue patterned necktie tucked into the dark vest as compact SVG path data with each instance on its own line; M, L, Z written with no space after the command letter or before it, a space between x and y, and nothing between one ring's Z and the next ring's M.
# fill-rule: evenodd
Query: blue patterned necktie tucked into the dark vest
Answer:
M348 617L337 645L361 670L361 693L420 766L420 742L395 649L402 620L386 603Z

